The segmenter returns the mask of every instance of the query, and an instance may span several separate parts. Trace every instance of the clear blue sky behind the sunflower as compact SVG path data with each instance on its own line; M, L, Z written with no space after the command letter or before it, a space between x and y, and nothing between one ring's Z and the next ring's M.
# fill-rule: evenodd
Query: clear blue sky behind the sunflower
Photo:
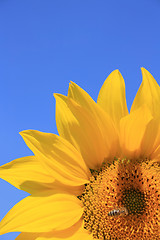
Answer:
M160 0L1 0L0 165L31 155L20 131L57 133L53 93L67 94L70 80L96 100L119 69L129 108L140 67L160 84L159 13ZM0 191L1 219L27 194L3 180Z

